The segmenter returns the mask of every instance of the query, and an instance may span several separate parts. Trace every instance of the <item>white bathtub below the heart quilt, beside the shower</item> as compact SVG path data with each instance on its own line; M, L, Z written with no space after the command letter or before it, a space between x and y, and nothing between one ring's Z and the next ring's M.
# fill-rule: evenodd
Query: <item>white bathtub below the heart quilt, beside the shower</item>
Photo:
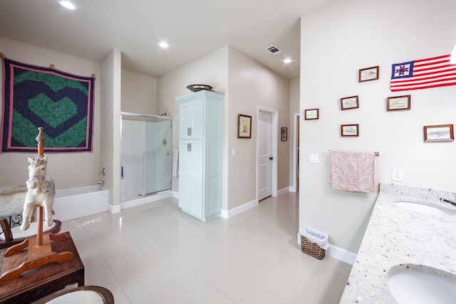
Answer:
M108 211L109 190L88 186L56 191L53 219L68 221L78 217Z

